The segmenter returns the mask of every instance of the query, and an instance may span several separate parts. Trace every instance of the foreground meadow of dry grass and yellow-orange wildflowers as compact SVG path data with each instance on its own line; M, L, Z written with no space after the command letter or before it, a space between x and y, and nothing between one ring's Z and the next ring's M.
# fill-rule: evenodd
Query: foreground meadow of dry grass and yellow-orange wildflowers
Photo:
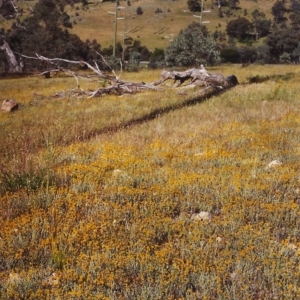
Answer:
M1 299L300 297L300 67L210 71L240 85L193 106L0 81L22 104L0 114Z

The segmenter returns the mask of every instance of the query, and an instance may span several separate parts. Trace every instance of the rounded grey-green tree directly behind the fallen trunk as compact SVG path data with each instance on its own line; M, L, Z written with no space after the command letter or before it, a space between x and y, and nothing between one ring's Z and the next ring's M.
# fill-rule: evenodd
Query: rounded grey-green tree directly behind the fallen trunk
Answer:
M168 66L214 65L220 61L216 43L206 27L193 22L171 42L165 51Z

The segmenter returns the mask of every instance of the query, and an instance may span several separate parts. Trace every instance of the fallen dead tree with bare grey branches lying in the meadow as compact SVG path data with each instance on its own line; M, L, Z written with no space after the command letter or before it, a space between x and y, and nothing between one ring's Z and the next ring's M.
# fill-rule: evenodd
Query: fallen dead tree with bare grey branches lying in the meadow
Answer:
M73 76L76 79L77 82L76 89L72 89L64 92L57 92L55 94L55 96L57 97L64 97L67 94L68 95L71 94L73 96L85 95L88 96L89 98L92 98L97 96L99 97L105 94L123 95L123 94L133 94L137 92L142 92L145 90L159 91L161 90L161 88L159 88L158 86L164 83L168 79L174 80L175 83L175 85L173 86L174 88L202 86L205 88L213 88L216 89L216 91L219 91L238 84L238 80L234 75L224 77L222 74L212 74L207 72L203 66L201 66L200 69L196 69L196 68L188 69L183 72L178 72L178 71L170 72L170 71L163 70L160 79L152 83L128 82L122 80L120 76L117 76L113 69L111 69L112 75L111 74L108 75L102 72L96 61L94 61L94 65L91 65L90 63L85 61L72 61L63 58L47 58L38 54L36 54L36 57L29 57L22 54L19 55L27 59L38 59L42 62L48 63L51 66L51 68L49 68L47 71L42 72L38 75L43 75L46 78L50 78L51 74L53 73L64 72L65 74ZM101 55L99 54L99 56ZM109 67L105 59L102 56L101 58L103 62ZM93 74L88 74L88 75L79 74L71 69L60 67L61 63L86 66L88 69L90 69L93 72ZM92 90L92 91L90 90L84 91L80 88L79 79L92 80L93 78L96 78L97 80L102 79L103 81L106 82L107 85L101 86L96 90ZM183 85L183 83L186 84Z

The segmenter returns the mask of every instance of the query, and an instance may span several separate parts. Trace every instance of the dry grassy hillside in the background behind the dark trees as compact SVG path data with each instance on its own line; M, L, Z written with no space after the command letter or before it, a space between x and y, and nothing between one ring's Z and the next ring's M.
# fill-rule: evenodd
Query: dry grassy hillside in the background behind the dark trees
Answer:
M18 3L20 8L23 8L25 18L30 15L29 6L33 7L36 1L26 1ZM240 1L240 8L233 10L232 15L224 18L219 18L219 11L213 1L204 1L205 10L210 10L210 13L203 15L204 21L209 21L206 24L211 32L215 30L225 32L228 21L237 17L245 16L250 21L252 20L251 13L258 9L264 12L267 19L272 19L271 7L274 5L274 0ZM127 1L120 1L120 6L124 9L119 10L118 17L124 18L118 21L117 40L123 43L124 33L126 36L134 40L141 41L142 45L148 49L166 48L170 41L176 37L181 29L186 28L190 23L199 21L199 18L193 17L195 13L188 11L186 0L139 0L131 1L131 6L127 5ZM142 15L137 15L138 7L143 9ZM161 14L155 14L157 8L161 9ZM223 7L225 13L228 8ZM244 11L247 14L244 14ZM66 12L71 17L73 29L70 32L77 34L83 41L96 39L100 45L105 48L113 44L114 38L114 15L108 12L115 11L115 3L113 2L90 2L83 8L81 4L75 4L73 8L66 7ZM199 15L196 14L196 15ZM13 20L0 20L0 27L10 28Z

